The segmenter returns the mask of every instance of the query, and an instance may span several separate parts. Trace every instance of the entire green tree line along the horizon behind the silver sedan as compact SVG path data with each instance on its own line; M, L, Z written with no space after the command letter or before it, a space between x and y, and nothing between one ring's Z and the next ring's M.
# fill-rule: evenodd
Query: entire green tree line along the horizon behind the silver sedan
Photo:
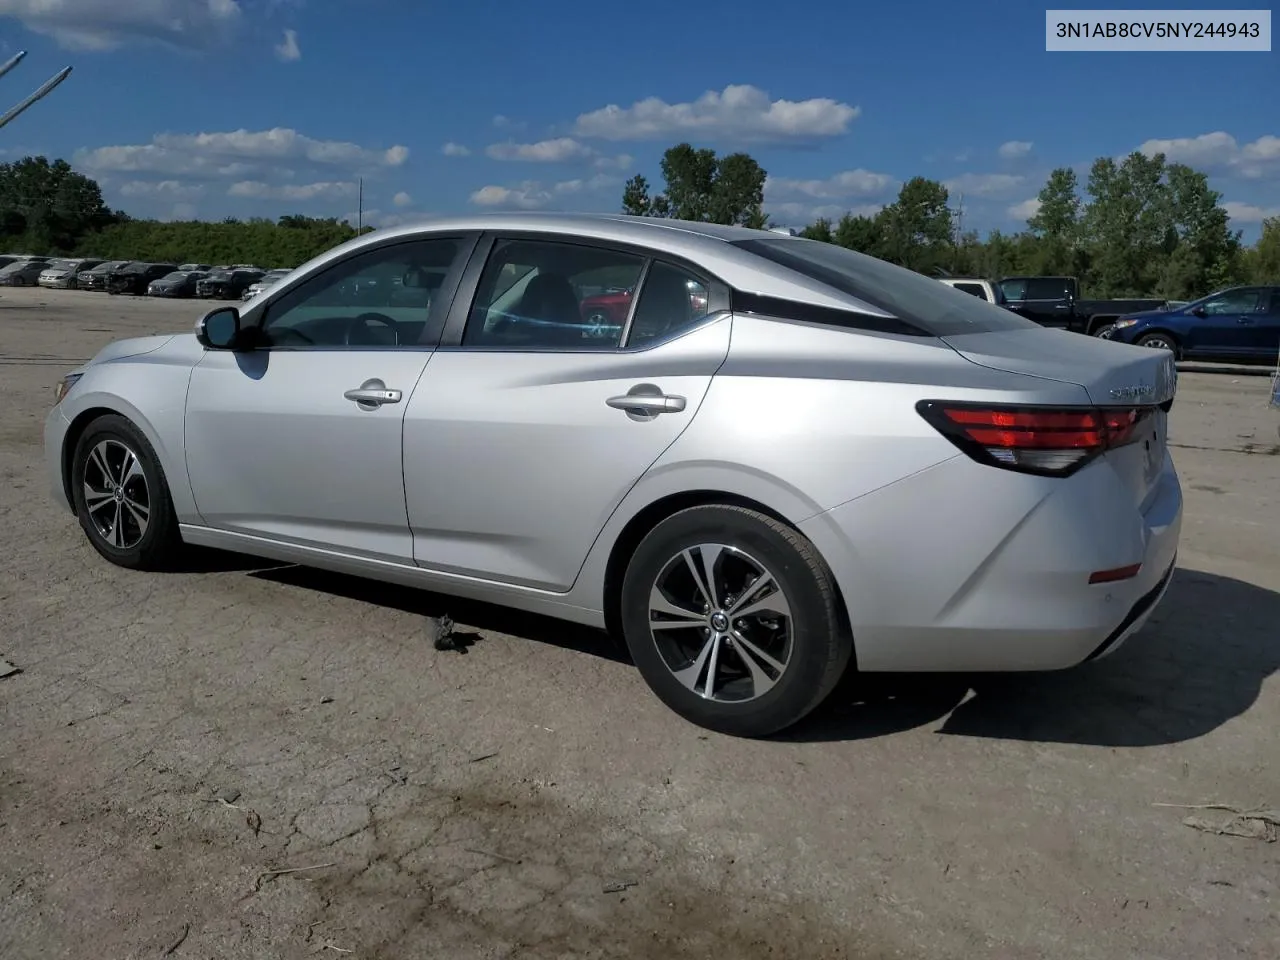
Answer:
M678 143L660 170L659 193L643 175L627 182L625 212L772 225L767 174L749 154ZM913 177L876 215L819 219L800 233L931 275L1069 274L1092 297L1192 300L1233 283L1280 283L1280 218L1243 244L1208 178L1161 154L1100 157L1083 191L1074 170L1053 170L1038 198L1027 229L983 238L960 229L942 183ZM355 236L337 218L134 219L110 209L99 184L65 160L0 164L0 252L297 266Z

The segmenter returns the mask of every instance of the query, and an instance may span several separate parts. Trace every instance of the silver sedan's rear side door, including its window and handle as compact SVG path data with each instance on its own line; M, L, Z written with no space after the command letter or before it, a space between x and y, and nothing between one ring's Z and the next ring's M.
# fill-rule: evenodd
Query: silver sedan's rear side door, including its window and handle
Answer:
M406 413L413 558L564 591L696 413L728 352L727 291L645 251L485 246ZM602 285L636 291L621 324L584 308Z

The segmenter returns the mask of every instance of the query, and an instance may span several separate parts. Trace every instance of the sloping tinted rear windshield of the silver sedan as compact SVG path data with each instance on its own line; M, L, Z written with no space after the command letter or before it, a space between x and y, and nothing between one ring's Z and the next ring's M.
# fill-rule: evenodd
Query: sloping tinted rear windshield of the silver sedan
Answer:
M931 276L835 243L780 237L736 241L735 246L867 301L934 337L1037 326Z

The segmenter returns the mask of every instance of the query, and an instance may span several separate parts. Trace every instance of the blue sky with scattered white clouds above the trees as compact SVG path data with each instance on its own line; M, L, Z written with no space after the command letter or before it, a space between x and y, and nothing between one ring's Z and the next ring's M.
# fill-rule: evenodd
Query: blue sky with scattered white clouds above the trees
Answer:
M873 211L915 174L1019 229L1048 170L1164 150L1236 228L1280 215L1280 51L1050 54L1044 9L603 0L0 0L0 159L63 156L136 216L392 224L616 210L666 147L746 150L767 209Z

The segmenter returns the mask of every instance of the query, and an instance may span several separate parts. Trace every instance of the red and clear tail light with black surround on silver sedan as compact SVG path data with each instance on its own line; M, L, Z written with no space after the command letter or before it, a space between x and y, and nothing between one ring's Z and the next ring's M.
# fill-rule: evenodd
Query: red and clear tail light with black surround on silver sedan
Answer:
M1068 476L1133 443L1153 407L1024 407L920 401L916 411L980 463Z

